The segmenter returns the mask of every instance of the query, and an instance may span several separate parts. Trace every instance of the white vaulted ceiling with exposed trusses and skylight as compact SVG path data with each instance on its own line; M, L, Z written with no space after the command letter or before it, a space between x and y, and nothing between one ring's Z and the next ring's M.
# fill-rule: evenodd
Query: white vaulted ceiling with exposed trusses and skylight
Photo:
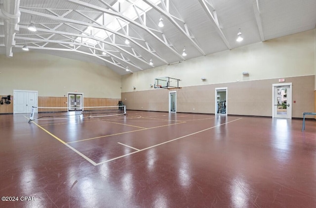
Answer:
M0 54L27 45L120 75L315 27L316 0L0 0Z

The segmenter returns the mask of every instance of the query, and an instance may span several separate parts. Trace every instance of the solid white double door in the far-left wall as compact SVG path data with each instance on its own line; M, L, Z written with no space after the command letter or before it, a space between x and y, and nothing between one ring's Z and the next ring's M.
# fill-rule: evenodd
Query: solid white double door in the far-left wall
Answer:
M13 114L31 113L33 106L38 107L37 91L13 90Z

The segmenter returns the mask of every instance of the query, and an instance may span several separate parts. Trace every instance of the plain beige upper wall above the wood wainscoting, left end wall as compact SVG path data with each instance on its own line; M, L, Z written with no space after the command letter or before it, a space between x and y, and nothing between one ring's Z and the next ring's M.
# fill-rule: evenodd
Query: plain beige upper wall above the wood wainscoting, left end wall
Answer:
M121 76L107 67L36 52L0 55L0 94L13 89L36 90L39 96L120 98Z

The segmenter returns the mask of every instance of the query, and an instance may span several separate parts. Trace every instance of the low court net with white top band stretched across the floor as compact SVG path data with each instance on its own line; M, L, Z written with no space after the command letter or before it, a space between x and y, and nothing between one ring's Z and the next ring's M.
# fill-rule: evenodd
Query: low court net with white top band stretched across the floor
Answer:
M126 114L125 105L117 106L94 106L94 107L32 107L30 121L72 119L72 118L95 118L107 116L119 116Z

